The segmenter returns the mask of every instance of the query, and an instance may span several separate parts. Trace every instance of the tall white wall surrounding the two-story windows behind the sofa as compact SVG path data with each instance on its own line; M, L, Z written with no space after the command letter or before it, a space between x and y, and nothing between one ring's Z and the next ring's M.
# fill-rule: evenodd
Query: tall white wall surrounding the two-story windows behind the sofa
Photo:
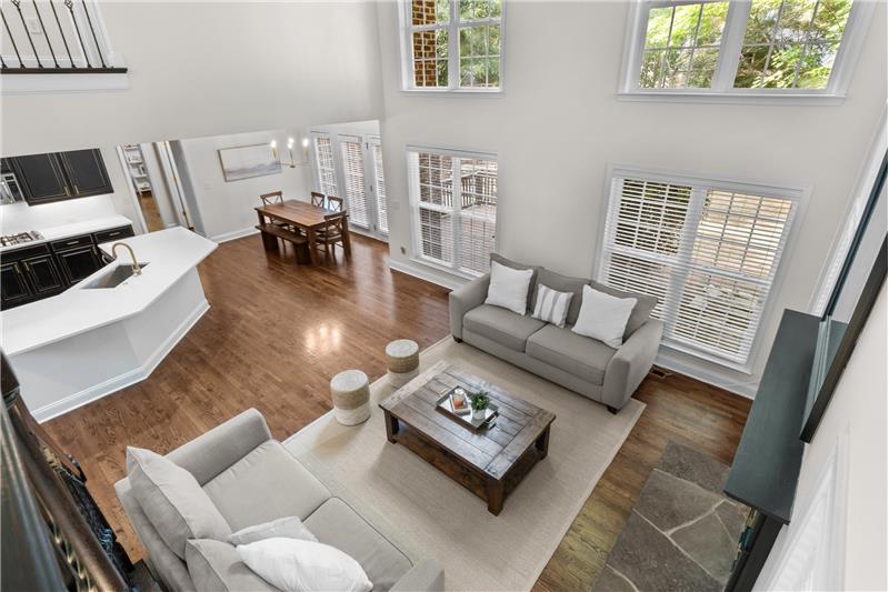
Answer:
M382 142L391 260L409 265L404 147L496 152L498 243L508 257L589 277L606 211L607 163L752 180L798 180L813 191L787 251L783 282L753 374L688 358L673 365L751 394L785 308L806 310L829 240L886 102L886 6L875 13L839 107L625 102L615 97L628 3L512 2L505 13L505 92L429 96L399 90L396 4L378 9L386 116ZM557 18L553 18L557 17Z

